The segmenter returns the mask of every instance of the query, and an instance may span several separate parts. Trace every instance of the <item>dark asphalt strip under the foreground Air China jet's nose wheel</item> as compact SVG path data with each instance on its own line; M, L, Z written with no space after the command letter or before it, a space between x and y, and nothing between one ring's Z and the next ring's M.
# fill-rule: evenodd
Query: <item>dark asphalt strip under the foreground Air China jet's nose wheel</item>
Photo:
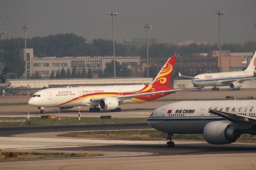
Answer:
M175 141L175 140L174 140ZM181 142L181 141L180 141ZM48 150L48 149L45 149ZM165 141L163 144L147 144L147 145L107 145L107 146L86 146L75 148L52 148L52 150L66 150L66 151L115 151L115 152L152 152L157 153L154 156L165 155L201 155L201 154L240 154L240 153L256 153L255 144L226 144L213 145L208 143L180 143L176 144L174 148L167 148Z

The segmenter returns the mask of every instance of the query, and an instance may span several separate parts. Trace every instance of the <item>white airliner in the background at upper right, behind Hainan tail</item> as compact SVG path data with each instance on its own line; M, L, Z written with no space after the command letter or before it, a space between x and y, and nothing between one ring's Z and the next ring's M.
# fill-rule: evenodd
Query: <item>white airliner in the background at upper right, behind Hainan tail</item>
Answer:
M213 86L212 90L219 90L218 86L229 86L233 90L240 90L240 87L242 87L241 83L247 80L256 79L255 66L256 51L245 71L205 73L196 75L195 77L184 76L179 73L179 76L191 78L194 87ZM199 88L199 90L202 91L201 88Z

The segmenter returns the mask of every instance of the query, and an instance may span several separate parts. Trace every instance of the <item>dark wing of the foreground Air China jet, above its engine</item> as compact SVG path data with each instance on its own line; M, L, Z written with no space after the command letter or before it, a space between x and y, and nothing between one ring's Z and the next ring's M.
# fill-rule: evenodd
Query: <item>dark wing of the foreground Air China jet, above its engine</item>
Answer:
M250 123L250 124L256 124L256 118L245 116L245 115L237 115L234 113L226 113L222 111L218 111L216 109L208 111L209 113L212 113L214 115L218 115L220 117L223 117L224 119L230 121L230 122L239 122L239 123Z

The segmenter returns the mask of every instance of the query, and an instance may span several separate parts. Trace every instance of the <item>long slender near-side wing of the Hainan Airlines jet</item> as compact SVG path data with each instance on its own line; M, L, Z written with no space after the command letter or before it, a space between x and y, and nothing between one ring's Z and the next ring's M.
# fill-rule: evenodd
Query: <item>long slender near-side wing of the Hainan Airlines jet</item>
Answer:
M186 88L186 89L163 90L163 91L156 91L156 92L149 92L149 93L138 93L138 94L132 94L132 95L119 95L119 96L114 96L114 97L116 97L118 99L118 101L123 102L124 100L132 99L134 97L149 96L149 95L170 93L170 92L181 91L181 90L198 89L198 88L200 88L200 87L192 87L192 88ZM98 101L100 99L102 99L102 97L93 97L90 100L91 101Z

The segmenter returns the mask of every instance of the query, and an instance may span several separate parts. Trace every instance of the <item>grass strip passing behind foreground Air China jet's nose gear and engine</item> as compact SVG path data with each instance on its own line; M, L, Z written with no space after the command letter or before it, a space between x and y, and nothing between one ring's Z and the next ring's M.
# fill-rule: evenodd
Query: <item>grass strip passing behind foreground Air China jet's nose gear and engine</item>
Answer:
M116 131L97 131L97 132L70 132L59 134L65 137L83 138L115 138L115 139L143 139L143 140L166 140L158 130L116 130ZM178 140L204 140L203 134L174 134L172 139ZM256 142L256 136L242 134L237 141Z

